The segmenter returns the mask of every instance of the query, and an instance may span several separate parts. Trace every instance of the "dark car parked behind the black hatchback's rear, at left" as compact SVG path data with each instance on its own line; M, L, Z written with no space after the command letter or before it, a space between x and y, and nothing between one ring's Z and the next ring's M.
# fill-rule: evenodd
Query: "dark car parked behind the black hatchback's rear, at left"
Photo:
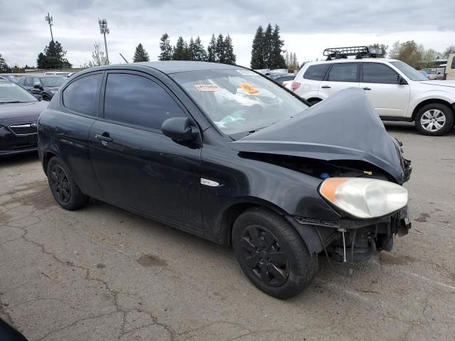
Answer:
M55 92L65 83L66 78L52 75L23 76L18 84L22 85L32 94L39 94L43 100L50 101Z

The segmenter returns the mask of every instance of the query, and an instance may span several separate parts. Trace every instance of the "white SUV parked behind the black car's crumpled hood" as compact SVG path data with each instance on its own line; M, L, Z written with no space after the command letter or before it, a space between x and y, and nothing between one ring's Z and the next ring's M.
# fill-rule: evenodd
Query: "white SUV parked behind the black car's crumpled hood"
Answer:
M454 126L455 81L427 80L401 60L336 59L306 63L291 90L311 104L347 87L360 87L384 121L415 121L425 135Z

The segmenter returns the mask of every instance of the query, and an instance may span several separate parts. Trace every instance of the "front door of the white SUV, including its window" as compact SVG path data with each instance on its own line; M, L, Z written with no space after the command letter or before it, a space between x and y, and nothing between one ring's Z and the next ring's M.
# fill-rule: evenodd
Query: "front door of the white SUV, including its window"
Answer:
M398 73L383 63L362 63L360 88L380 117L406 117L410 86L398 83Z

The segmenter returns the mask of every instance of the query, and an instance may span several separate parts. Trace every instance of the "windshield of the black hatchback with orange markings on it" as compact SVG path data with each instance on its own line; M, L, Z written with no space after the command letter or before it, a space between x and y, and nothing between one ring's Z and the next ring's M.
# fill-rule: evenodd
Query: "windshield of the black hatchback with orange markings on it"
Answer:
M287 90L251 70L201 70L171 77L230 136L262 129L308 108Z

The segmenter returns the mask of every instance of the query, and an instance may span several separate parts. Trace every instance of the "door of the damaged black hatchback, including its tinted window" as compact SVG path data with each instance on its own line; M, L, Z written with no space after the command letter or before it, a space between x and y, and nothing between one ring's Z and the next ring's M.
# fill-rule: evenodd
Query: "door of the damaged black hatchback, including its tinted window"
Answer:
M200 148L161 133L170 117L190 117L156 78L107 72L104 115L90 129L90 157L102 200L190 229L202 229Z

